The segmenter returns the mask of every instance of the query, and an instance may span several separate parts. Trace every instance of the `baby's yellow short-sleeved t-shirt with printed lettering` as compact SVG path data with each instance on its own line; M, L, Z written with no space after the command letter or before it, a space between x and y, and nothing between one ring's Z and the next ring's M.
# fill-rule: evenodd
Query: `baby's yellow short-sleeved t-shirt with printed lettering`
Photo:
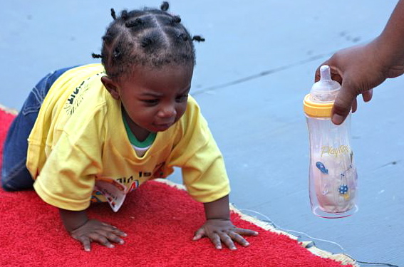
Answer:
M222 154L195 100L181 119L158 132L138 157L123 124L119 100L100 78L103 66L90 64L63 73L43 100L29 136L26 165L38 195L61 209L88 208L97 179L115 179L128 192L143 182L182 168L189 194L210 202L229 194Z

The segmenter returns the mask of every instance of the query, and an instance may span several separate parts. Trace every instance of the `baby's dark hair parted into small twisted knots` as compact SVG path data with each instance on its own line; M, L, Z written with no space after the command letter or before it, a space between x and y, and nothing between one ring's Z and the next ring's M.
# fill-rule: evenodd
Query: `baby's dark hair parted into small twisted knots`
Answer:
M101 54L93 53L93 58L101 58L110 78L130 73L133 66L195 66L193 41L204 38L191 37L180 16L169 14L168 7L165 1L160 9L123 10L120 16L111 9L114 20L103 36Z

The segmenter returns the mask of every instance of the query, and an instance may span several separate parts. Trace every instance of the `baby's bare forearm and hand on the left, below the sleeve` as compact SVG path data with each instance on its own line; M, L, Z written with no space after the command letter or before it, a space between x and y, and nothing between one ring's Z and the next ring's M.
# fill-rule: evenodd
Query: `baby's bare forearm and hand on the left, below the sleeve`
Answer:
M105 224L95 219L88 219L86 211L68 211L59 209L63 224L69 234L81 242L85 251L90 251L90 244L96 241L103 246L113 248L114 245L110 241L123 244L123 239L126 234L115 226Z

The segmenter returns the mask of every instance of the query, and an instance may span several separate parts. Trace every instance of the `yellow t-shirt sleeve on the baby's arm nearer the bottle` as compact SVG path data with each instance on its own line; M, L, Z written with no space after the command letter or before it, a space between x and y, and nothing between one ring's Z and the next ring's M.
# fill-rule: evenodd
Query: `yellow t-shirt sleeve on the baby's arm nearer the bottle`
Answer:
M191 197L205 203L229 194L222 153L192 98L181 127L182 137L172 151L169 164L182 168L182 179Z

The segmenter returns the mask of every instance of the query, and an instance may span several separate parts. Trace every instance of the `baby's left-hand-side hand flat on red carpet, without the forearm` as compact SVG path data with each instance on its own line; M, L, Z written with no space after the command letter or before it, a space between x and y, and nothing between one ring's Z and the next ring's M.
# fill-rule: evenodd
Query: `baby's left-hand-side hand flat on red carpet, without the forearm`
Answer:
M115 226L105 224L98 220L88 220L86 224L78 227L70 232L73 239L81 242L85 251L90 251L90 244L92 241L96 241L108 248L115 247L110 241L118 244L123 244L123 239L119 236L125 237L126 234Z

